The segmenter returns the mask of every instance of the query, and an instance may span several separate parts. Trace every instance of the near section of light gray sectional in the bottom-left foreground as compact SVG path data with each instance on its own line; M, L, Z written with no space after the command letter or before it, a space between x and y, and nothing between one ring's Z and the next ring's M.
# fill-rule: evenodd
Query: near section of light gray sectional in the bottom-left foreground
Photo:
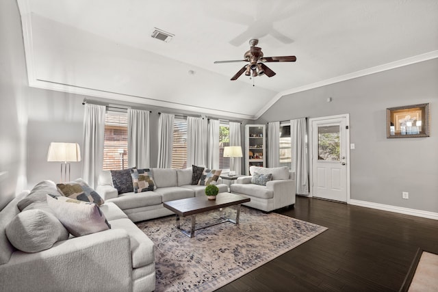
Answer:
M38 252L14 248L6 233L8 224L21 212L48 211L44 204L46 196L56 193L55 183L43 181L32 191L18 195L0 211L1 291L155 290L154 244L112 202L100 206L111 225L108 230L80 237L68 237L65 230L63 240ZM34 198L34 204L20 211L18 204L27 198ZM38 220L32 224L38 224Z

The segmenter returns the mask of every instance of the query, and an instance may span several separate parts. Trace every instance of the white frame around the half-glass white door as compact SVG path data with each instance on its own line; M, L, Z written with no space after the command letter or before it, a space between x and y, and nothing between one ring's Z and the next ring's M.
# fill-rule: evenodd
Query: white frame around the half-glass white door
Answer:
M336 118L345 118L346 119L346 191L347 191L347 200L346 203L350 203L350 114L340 114L336 116L324 116L319 118L309 118L309 197L313 197L313 122L314 121L324 121L330 122L330 120ZM317 145L318 146L318 145Z

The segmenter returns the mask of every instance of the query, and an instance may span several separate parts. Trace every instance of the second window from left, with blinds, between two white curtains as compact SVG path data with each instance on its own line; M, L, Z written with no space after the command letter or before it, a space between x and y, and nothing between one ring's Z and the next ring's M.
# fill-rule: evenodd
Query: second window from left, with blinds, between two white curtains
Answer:
M173 122L172 168L186 168L186 167L187 167L187 121L181 118L175 118Z

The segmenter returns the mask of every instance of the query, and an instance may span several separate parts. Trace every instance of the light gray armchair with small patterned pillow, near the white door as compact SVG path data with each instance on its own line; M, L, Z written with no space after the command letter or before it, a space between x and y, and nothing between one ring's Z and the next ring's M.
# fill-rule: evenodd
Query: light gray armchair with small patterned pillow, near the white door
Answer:
M251 183L253 176L237 178L231 185L231 193L250 198L244 203L248 207L270 212L283 207L293 207L295 204L295 172L289 172L286 167L260 168L250 167L250 174L272 174L272 181L266 185Z

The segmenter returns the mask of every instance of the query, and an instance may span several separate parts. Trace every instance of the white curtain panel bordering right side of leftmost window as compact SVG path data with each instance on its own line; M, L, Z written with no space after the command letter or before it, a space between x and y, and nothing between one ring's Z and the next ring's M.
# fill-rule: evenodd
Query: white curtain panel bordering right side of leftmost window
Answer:
M149 111L128 109L128 166L149 168Z

